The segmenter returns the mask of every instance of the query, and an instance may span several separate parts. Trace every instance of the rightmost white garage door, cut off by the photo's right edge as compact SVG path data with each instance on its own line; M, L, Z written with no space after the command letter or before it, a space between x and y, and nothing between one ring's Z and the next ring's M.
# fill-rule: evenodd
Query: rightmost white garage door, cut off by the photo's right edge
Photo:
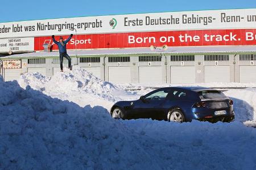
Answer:
M256 82L256 66L240 66L239 67L240 83Z

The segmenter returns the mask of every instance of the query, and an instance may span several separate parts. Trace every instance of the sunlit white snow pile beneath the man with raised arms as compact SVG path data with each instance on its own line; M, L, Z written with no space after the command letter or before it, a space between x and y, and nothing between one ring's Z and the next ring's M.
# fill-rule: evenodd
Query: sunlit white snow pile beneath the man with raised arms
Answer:
M51 78L40 73L26 73L20 76L18 82L23 88L29 85L46 95L73 101L82 107L105 102L109 107L115 101L121 100L122 96L131 95L112 83L98 79L79 66L73 66L72 71L64 68L64 73L56 73Z

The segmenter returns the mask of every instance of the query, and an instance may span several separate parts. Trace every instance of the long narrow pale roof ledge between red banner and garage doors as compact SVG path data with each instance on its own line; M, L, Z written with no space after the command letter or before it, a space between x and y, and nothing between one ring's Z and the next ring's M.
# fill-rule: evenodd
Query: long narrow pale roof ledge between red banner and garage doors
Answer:
M97 56L97 55L122 55L122 54L183 54L183 53L256 53L256 45L251 46L169 46L167 50L150 48L123 48L123 49L92 49L69 50L69 56ZM30 58L59 56L59 52L34 52L14 54L2 58Z

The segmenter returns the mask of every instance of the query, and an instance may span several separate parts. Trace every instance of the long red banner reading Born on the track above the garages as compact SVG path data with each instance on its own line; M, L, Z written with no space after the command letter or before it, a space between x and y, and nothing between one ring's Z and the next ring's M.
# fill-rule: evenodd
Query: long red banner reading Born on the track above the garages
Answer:
M64 40L68 36L63 36ZM59 40L59 36L55 36ZM35 50L43 44L57 46L51 37L35 37ZM212 29L162 32L106 33L74 35L67 49L135 48L154 46L256 45L256 29Z

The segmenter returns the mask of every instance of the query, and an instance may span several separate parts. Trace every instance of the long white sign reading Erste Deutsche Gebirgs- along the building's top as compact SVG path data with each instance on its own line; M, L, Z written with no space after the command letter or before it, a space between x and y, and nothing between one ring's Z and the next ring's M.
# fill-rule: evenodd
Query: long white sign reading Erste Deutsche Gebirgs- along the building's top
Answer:
M78 34L256 28L256 9L159 12L0 23L0 39Z

